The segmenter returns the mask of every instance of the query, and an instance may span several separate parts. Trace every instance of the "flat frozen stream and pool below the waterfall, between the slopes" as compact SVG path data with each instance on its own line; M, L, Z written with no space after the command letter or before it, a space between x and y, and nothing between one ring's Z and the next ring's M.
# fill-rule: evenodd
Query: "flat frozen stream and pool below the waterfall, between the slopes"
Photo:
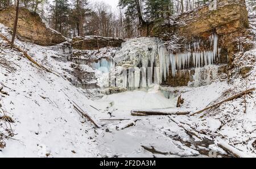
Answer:
M104 96L96 102L105 110L104 115L108 113L106 119L130 119L101 120L104 132L97 140L104 157L200 157L208 154L208 145L213 144L195 142L168 116L130 115L131 109L175 107L175 100L164 98L160 92L130 91ZM135 120L138 121L133 126L121 129ZM154 150L150 150L151 146ZM146 150L145 147L150 149Z

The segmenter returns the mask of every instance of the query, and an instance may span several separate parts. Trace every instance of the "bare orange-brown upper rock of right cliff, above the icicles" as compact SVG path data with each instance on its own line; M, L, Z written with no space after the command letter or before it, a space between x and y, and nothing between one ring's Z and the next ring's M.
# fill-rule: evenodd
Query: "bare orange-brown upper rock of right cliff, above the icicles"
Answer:
M241 48L250 49L251 44L237 38L247 37L249 33L247 28L249 22L245 0L217 0L210 5L174 16L170 22L158 20L148 23L141 27L141 34L160 37L166 41L172 40L174 35L179 35L183 38L178 43L189 44L195 40L205 41L216 33L222 55L228 54L232 61L232 55Z

